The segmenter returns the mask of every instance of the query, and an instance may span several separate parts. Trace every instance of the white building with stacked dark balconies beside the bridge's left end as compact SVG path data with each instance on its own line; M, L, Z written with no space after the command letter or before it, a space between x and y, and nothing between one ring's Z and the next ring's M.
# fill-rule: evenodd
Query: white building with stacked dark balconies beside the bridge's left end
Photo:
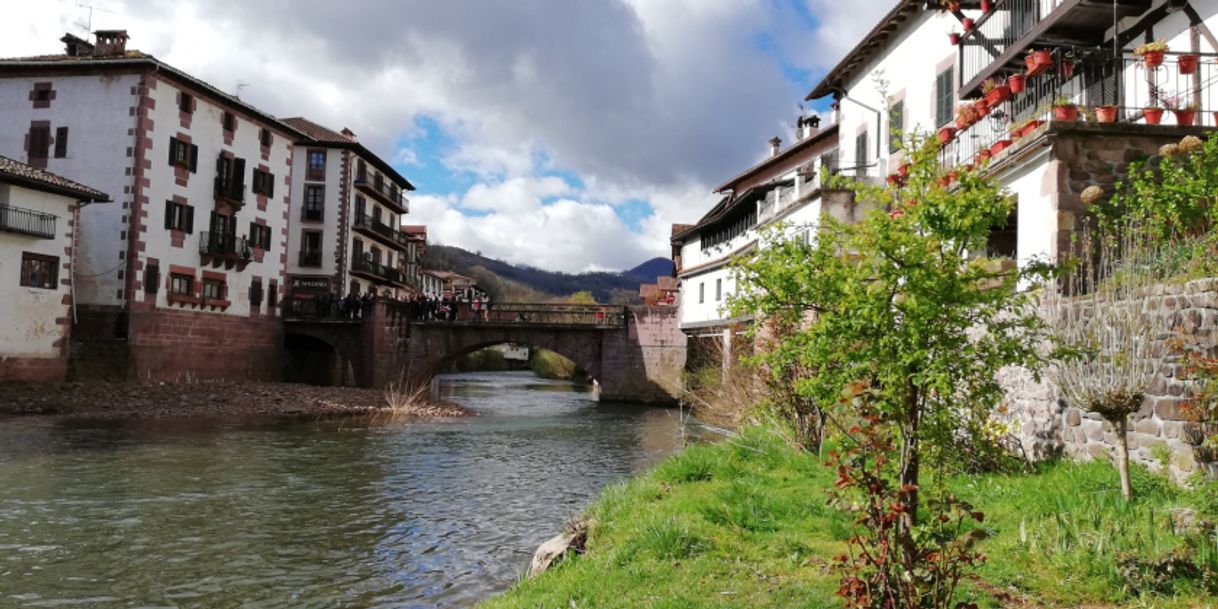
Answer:
M304 134L296 144L292 201L296 227L287 275L292 298L318 294L400 297L409 284L401 230L414 185L368 150L350 129L334 132L306 118L285 123Z

